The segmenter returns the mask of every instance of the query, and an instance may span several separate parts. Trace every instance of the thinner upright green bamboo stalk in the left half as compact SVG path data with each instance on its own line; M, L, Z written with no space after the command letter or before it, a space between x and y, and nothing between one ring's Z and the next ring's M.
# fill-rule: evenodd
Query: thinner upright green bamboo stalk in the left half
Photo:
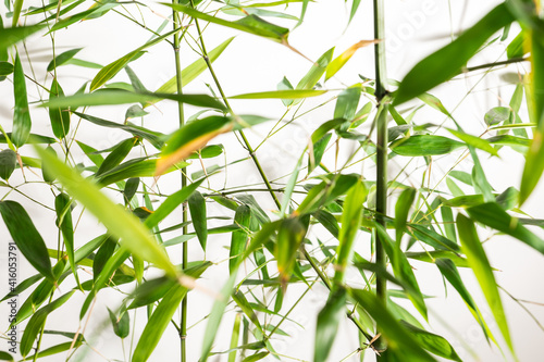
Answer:
M172 3L177 3L177 0L172 0ZM180 26L182 26L181 21L180 21L180 13L176 10L173 10L172 17L174 20L174 29L177 29ZM174 34L174 57L175 57L175 78L176 78L176 85L177 85L177 93L182 95L183 90L183 83L182 83L182 64L180 60L180 40L181 40L182 35ZM180 120L180 127L183 127L185 124L185 116L183 112L183 103L178 102L177 103L177 113L178 113L178 120ZM187 173L186 173L186 167L182 168L182 188L187 186ZM183 211L182 211L182 221L184 224L187 222L187 203L184 202L183 204ZM182 230L183 235L187 234L187 226L183 227ZM182 267L186 269L187 267L187 242L183 242L182 245ZM181 344L181 361L186 362L187 361L187 345L186 345L186 339L187 339L187 296L188 294L185 295L185 298L182 300L182 315L181 315L181 321L180 321L180 344Z

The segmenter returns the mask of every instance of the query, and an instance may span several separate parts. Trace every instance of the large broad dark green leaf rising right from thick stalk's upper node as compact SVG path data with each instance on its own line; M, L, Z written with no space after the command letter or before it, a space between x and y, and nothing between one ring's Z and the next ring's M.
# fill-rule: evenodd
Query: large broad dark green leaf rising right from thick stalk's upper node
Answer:
M514 16L500 3L457 39L419 62L405 76L395 95L394 104L404 103L457 75L498 29L510 24Z

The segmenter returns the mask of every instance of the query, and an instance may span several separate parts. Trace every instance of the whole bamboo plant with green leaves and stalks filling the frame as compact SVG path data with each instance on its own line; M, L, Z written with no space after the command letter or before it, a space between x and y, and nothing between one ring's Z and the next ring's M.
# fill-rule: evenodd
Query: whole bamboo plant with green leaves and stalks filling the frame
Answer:
M342 30L362 22L360 4L336 1L348 14ZM503 302L522 302L497 283L499 265L483 247L494 238L481 235L504 234L544 253L544 222L522 210L544 171L541 3L496 3L444 47L421 54L399 80L386 72L385 29L394 26L384 0L371 3L373 32L347 49L320 49L312 59L300 50L304 40L289 36L307 26L319 5L3 3L0 87L11 95L3 110L12 117L3 117L0 127L2 239L13 241L10 252L16 250L33 274L2 296L2 303L18 298L21 304L5 325L4 338L14 339L14 347L0 359L153 361L161 341L176 336L178 344L166 347L171 361L470 360L434 332L418 265L460 297L490 348L517 359ZM125 54L92 49L107 65L57 40L104 18L145 37ZM160 26L148 25L153 21ZM277 85L254 79L252 89L232 93L222 72L243 73L245 63L222 63L222 54L244 41L231 34L281 49L306 62L307 71L296 86L287 77ZM40 49L28 46L35 39L47 49L44 64L35 61L44 58ZM474 63L497 42L506 51L495 62ZM171 78L150 88L136 70L146 64L158 72L149 58L165 45ZM374 49L368 77L346 66L364 48ZM246 50L240 59L251 58ZM478 134L435 96L456 79L483 79L517 65L528 71L518 72L514 85L498 80L498 89L512 91L483 115ZM359 73L367 68L361 65ZM81 71L83 82L67 70ZM267 109L261 104L273 111L255 112ZM428 122L424 112L445 121ZM271 171L263 150L279 157L276 135L294 132L308 114L319 122L290 163ZM176 122L164 132L157 117ZM119 132L123 139L102 147L82 128ZM508 152L520 153L524 168L518 184L497 189L485 164ZM239 170L257 182L228 182ZM38 227L39 217L52 222L48 229ZM98 223L100 234L82 230L85 221ZM466 284L470 270L486 303L477 304L478 288ZM208 275L221 273L222 287L210 288ZM313 350L282 353L280 337L294 338L284 328L296 324L294 311L317 290L327 297L311 315L316 328L304 329ZM107 297L112 294L119 298ZM211 308L197 308L191 298ZM62 314L79 327L52 329ZM199 325L202 333L193 332ZM103 355L96 348L111 328L122 354ZM10 330L18 330L15 338ZM358 340L343 355L335 338L341 330Z

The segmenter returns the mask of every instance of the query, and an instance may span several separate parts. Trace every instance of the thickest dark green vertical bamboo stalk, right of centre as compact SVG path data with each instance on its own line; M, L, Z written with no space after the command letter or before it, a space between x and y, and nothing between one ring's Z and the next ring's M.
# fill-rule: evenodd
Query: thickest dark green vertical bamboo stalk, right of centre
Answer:
M375 97L378 102L376 114L376 221L385 226L383 217L387 212L387 103L384 98L387 95L386 89L386 68L385 68L385 25L384 25L384 0L374 0L374 39L382 41L374 45L374 64L375 64ZM375 237L376 264L385 269L385 251L383 240ZM387 298L386 280L376 275L376 295L384 303ZM376 349L384 349L384 342L381 338L376 341ZM381 360L381 357L378 357Z

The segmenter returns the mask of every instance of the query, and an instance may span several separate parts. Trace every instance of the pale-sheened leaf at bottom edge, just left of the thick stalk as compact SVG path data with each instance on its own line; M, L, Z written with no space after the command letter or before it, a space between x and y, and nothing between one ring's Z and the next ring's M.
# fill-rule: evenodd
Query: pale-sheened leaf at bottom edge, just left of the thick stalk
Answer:
M325 305L318 314L313 361L324 362L333 347L338 325L345 315L346 289L335 288L329 295Z

